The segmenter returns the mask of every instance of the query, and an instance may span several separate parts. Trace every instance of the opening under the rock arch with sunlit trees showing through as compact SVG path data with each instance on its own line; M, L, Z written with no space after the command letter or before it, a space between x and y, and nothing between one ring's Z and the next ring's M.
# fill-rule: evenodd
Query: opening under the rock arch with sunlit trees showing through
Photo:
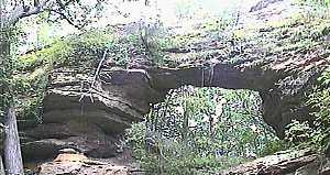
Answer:
M132 143L132 136L143 138L145 151L161 150L166 157L193 154L242 161L272 154L280 142L263 120L257 91L194 86L169 90L128 135ZM141 149L136 143L133 149Z

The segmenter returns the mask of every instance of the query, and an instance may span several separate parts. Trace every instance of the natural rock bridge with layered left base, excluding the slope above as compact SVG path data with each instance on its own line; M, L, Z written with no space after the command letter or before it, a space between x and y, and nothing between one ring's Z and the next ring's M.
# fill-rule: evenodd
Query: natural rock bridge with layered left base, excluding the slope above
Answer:
M306 66L310 65L315 62ZM307 73L310 75L299 76ZM283 69L264 70L221 63L175 69L105 68L100 80L90 90L84 85L84 74L57 69L52 73L52 84L44 100L44 121L25 132L35 141L23 144L23 151L28 157L30 153L45 156L72 145L91 156L112 156L116 152L113 133L121 133L132 122L141 121L148 112L150 103L161 101L169 89L183 85L258 91L265 122L282 136L290 120L309 119L302 105L304 92L314 84L317 74L314 68L287 74ZM297 78L297 84L285 84L293 77ZM85 96L82 100L81 96Z

